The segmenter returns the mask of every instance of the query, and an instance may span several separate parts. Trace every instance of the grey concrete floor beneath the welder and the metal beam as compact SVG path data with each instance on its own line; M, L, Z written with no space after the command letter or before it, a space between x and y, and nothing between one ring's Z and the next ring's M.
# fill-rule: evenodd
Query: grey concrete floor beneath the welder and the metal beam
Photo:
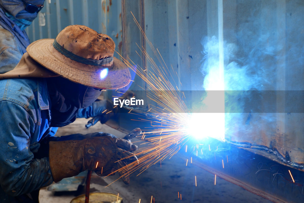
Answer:
M105 124L96 124L89 129L85 128L87 119L77 119L74 123L62 127L57 135L68 135L74 133L90 132L108 132L118 137L125 134L113 129ZM134 140L133 140L134 141ZM114 183L119 176L108 176L106 178L92 173L90 191L91 192L109 192L118 194L123 198L124 203L150 203L152 202L251 202L251 203L269 203L270 201L252 194L243 188L227 182L226 180L216 178L214 185L214 175L205 170L188 164L178 156L166 159L160 163L150 166L146 171L131 177L130 185L125 185L121 180ZM197 187L195 187L194 177L197 178ZM112 183L112 184L110 184ZM53 183L54 184L54 183ZM84 194L84 190L81 191ZM178 194L181 194L181 199ZM72 192L54 192L47 191L46 188L40 190L41 203L69 203L75 197L75 191Z

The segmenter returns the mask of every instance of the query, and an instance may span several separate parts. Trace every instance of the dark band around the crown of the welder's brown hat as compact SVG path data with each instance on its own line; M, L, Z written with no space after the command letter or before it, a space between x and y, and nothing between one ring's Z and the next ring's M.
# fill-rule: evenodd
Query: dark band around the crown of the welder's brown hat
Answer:
M104 64L107 64L107 63L110 63L110 62L113 61L113 56L105 58L105 59L94 60L94 59L86 59L86 58L83 58L81 56L75 55L72 52L63 48L60 44L58 44L56 39L53 42L53 47L58 52L65 55L67 58L72 59L72 60L74 60L76 62L79 62L79 63L87 64L87 65L100 66L100 65L104 65Z

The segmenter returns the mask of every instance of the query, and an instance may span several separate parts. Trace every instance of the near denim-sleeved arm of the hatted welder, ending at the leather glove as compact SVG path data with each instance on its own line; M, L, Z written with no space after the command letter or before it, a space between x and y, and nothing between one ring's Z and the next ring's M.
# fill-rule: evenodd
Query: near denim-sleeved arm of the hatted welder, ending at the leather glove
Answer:
M34 159L31 133L40 122L26 109L10 101L0 102L0 183L3 190L18 196L50 185L53 182L48 158ZM32 144L30 144L32 143Z

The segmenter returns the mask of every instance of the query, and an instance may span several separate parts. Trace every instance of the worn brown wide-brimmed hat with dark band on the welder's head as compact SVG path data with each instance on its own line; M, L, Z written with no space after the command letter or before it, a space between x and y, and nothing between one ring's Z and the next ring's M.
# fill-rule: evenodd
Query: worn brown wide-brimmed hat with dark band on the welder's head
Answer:
M71 25L56 39L41 39L26 51L42 66L75 83L98 89L117 89L130 83L129 68L113 57L115 43L106 34Z

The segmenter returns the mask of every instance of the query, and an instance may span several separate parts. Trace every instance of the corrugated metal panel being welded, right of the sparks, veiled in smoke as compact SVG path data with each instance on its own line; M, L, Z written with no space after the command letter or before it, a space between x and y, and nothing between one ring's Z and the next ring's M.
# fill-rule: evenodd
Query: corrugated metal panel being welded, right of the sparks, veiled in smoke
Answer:
M223 93L226 141L247 143L303 169L297 166L304 164L303 2L142 0L129 2L124 13L139 2L143 15L137 20L179 76L174 80L190 107L199 109L205 90L223 90L222 77L225 90L232 90ZM132 21L130 16L125 23Z

